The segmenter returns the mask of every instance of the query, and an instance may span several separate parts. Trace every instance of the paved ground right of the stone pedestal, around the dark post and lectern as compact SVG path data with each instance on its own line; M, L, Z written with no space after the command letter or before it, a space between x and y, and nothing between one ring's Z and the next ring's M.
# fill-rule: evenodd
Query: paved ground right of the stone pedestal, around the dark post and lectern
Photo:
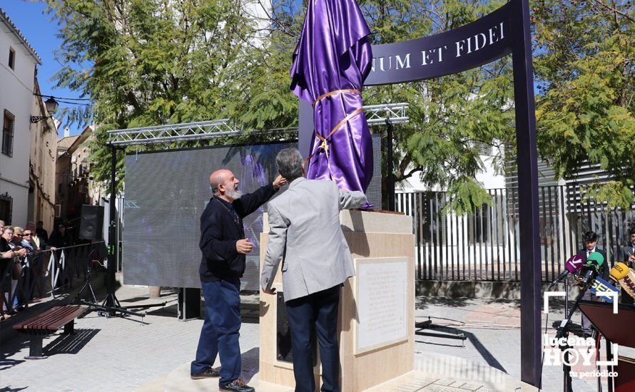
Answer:
M434 328L419 331L415 336L415 350L435 351L457 356L489 366L520 379L520 301L507 299L449 299L417 297L415 319L432 319ZM542 316L541 331L554 336L557 325L564 318L564 301L552 301L549 319ZM572 329L579 333L580 314L575 314ZM465 341L427 336L427 332L464 334ZM604 341L603 341L604 347ZM603 349L604 350L604 349ZM591 366L575 366L576 371L594 371ZM543 366L544 391L562 391L562 366ZM596 378L574 378L574 391L596 391ZM604 380L606 391L606 379Z

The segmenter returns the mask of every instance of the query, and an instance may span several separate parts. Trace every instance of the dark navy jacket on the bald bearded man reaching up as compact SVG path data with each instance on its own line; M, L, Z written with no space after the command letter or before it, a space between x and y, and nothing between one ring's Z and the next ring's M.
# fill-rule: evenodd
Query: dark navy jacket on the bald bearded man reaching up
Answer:
M265 204L277 190L265 185L243 195L233 203L212 197L200 216L200 282L235 280L245 272L245 254L238 253L236 242L245 238L243 218ZM235 221L237 215L238 223Z

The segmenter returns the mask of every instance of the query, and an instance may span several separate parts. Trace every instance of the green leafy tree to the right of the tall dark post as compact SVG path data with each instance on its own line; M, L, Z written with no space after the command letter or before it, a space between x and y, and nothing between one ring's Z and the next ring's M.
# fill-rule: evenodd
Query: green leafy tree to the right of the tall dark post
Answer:
M539 152L557 177L599 165L586 196L635 203L635 12L632 1L534 2Z

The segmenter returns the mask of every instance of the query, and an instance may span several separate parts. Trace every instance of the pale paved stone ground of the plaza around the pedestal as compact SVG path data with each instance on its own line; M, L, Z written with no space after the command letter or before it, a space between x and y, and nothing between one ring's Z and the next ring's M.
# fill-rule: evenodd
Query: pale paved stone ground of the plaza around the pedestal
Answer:
M134 316L106 319L90 313L76 321L76 334L45 339L47 359L25 360L28 343L23 337L0 342L0 390L131 391L165 377L193 359L203 321L178 321L176 292L163 293L160 300L148 299L147 287L121 287L117 296L124 306L168 304L148 311L143 323ZM258 296L244 296L243 303L240 348L249 357L259 344ZM415 356L457 356L520 378L519 301L418 297L416 307L416 320L430 316L434 325L415 336ZM562 306L554 311L549 326L562 319ZM579 324L579 316L575 322ZM467 339L444 337L451 333ZM543 383L544 391L562 390L562 368L545 366ZM596 381L576 379L574 390L595 391Z

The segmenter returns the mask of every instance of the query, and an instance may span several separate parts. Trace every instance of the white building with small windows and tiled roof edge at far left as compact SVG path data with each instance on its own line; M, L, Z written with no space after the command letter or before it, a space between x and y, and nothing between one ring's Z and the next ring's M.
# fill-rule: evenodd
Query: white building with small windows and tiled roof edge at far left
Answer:
M41 58L0 9L0 220L24 226L29 204L31 109Z

